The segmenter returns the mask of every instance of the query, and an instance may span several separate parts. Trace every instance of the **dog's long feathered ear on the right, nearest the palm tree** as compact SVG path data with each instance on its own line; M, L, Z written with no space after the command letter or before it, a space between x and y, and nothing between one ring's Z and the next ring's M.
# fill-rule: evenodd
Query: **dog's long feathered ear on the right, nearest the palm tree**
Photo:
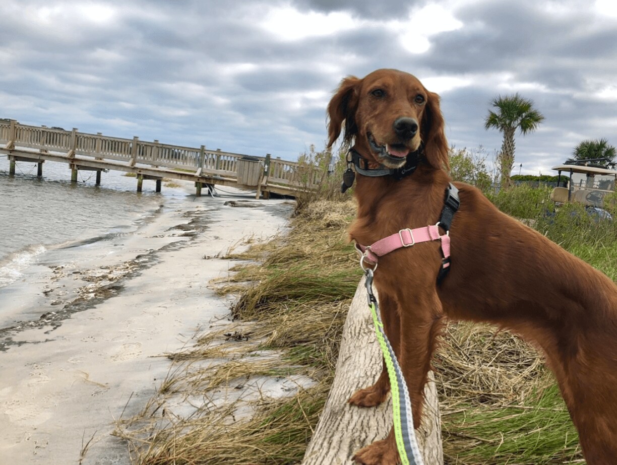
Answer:
M448 160L448 142L444 133L444 117L439 108L439 96L432 92L428 93L426 109L422 116L422 138L424 140L424 154L426 160L437 170L450 169Z

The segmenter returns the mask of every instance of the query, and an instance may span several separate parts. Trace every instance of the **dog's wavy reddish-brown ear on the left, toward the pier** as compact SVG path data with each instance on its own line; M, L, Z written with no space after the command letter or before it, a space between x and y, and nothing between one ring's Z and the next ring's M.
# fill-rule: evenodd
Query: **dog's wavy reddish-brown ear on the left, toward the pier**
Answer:
M328 148L336 142L341 135L341 126L345 121L343 139L351 142L358 133L355 124L355 110L358 106L358 93L362 80L355 76L348 76L341 81L341 85L328 104Z

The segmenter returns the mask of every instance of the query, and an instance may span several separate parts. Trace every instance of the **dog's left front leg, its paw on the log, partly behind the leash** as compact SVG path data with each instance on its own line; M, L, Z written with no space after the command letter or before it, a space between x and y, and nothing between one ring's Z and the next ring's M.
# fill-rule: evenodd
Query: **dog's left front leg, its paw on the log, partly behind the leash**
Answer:
M379 294L379 313L384 323L387 338L392 345L394 353L399 356L400 345L400 318L396 301L390 295ZM383 357L382 357L383 361ZM375 384L364 389L357 390L349 398L351 405L358 407L375 407L386 400L387 393L390 391L390 379L387 374L386 362L383 361L381 374Z

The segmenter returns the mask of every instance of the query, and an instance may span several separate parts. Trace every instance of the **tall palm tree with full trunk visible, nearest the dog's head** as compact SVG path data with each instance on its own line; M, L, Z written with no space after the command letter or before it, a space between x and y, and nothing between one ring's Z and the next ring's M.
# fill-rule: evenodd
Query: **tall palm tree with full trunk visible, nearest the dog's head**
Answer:
M534 109L534 102L521 97L518 93L511 96L498 96L491 106L497 111L489 110L484 120L484 128L497 128L503 133L503 143L499 154L501 183L503 187L510 184L510 172L514 166L514 134L519 129L521 134L535 131L544 121L544 115Z

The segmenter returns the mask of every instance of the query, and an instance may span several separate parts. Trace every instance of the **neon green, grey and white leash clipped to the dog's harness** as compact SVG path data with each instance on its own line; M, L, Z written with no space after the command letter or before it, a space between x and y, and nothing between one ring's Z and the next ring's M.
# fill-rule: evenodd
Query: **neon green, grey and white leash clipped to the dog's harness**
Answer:
M381 352L386 362L387 374L390 379L392 392L392 419L394 420L394 437L399 450L402 465L423 465L422 455L416 441L413 429L412 401L409 398L407 384L394 350L387 339L384 325L379 314L379 304L373 295L373 270L365 269L366 292L368 294L368 307L373 315L373 324Z

